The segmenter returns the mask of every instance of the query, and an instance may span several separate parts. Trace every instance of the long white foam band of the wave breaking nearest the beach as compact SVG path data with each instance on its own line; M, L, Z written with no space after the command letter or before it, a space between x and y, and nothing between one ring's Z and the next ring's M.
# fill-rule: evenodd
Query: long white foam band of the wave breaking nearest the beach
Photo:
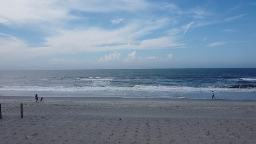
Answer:
M51 91L51 92L97 92L97 91L140 91L140 92L174 92L174 93L201 93L201 92L256 92L256 88L194 88L186 86L4 86L0 90L14 91Z

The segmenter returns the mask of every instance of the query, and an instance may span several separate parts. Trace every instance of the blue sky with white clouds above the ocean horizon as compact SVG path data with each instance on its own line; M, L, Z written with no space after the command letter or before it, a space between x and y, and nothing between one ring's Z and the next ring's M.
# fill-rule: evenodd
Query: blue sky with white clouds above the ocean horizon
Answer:
M255 0L0 0L0 70L255 68Z

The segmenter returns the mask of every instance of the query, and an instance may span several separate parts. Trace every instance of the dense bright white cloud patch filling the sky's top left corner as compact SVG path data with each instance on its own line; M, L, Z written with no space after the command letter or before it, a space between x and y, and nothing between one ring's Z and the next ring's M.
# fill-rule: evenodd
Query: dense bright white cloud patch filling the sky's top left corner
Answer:
M58 3L58 4L57 4ZM0 22L3 24L54 21L73 18L63 2L57 0L5 0L0 4Z

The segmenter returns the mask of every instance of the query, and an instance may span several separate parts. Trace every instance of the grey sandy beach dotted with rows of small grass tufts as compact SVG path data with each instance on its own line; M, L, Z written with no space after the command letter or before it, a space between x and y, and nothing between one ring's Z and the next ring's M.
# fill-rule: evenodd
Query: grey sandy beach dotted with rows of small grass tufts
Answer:
M0 96L1 144L256 144L255 100Z

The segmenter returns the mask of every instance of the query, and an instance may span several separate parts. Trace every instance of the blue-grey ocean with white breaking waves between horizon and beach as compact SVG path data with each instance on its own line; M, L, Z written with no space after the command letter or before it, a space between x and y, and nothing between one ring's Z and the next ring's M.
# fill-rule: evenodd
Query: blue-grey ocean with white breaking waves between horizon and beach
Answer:
M0 71L0 95L256 100L256 68Z

